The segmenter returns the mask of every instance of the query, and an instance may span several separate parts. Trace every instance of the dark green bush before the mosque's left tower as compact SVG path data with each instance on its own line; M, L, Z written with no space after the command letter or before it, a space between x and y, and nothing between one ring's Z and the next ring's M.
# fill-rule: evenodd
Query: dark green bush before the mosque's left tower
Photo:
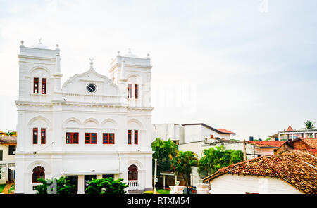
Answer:
M70 186L70 181L66 180L65 177L51 178L51 179L43 179L38 178L37 181L42 184L35 187L37 194L70 194L72 190L75 188L75 185Z

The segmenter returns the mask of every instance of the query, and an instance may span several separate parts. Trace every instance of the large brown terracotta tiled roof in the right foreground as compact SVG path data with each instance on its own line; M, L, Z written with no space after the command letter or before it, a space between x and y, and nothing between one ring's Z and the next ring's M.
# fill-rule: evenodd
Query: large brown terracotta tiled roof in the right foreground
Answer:
M317 194L317 159L307 151L286 150L278 155L256 157L219 169L203 180L223 174L276 177L303 193Z

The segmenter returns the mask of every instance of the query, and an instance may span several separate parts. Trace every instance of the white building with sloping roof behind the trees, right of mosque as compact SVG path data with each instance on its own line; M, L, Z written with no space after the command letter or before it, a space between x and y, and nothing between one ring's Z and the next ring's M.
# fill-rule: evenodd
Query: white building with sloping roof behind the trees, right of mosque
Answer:
M175 143L191 143L204 141L205 138L224 138L230 140L235 133L227 129L216 129L209 125L198 124L153 124L152 141L170 138Z

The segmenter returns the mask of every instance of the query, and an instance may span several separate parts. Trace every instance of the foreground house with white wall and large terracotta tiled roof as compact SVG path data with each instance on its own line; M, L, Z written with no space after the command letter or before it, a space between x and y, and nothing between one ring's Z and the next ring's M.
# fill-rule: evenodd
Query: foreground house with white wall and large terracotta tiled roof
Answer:
M316 157L286 150L232 164L207 176L211 194L317 194Z

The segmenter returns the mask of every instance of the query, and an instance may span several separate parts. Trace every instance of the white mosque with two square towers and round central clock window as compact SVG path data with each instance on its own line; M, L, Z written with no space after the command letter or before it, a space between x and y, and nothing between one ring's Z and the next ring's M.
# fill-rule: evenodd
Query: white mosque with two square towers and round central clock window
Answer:
M61 58L41 41L21 41L15 193L35 193L37 178L68 176L74 193L92 178L123 178L128 190L152 190L151 60L120 51L110 79L90 59L61 85ZM81 69L78 69L81 71Z

